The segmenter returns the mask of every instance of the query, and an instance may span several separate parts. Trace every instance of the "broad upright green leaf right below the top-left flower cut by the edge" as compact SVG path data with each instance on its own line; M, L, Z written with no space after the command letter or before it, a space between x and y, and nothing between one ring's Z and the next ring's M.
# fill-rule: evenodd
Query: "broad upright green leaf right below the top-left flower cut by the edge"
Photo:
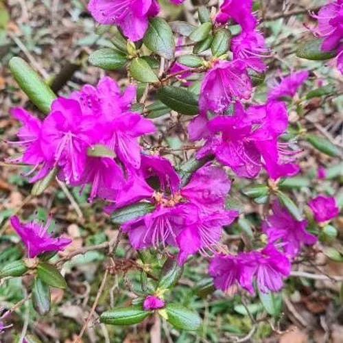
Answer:
M175 42L170 26L159 16L150 19L149 22L143 38L144 44L155 54L171 60L174 57Z

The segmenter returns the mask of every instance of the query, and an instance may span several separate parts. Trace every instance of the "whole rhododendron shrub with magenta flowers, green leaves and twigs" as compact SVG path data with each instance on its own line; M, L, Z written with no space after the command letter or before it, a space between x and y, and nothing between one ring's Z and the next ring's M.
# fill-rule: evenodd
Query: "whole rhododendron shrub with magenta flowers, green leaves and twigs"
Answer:
M332 54L342 69L342 6L331 1L311 14L318 20L311 32L322 40L316 51L313 42L311 49L301 47L299 58ZM215 292L228 302L258 297L254 301L272 314L268 302L280 298L289 276L328 241L329 222L340 212L332 188L318 187L318 196L309 191L332 175L326 165L314 171L312 186L302 183L308 152L341 154L300 122L313 97L332 94L320 88L314 94L312 69L273 71L273 47L252 1L200 6L196 25L168 23L156 0L91 0L88 11L97 25L113 29L113 47L93 51L89 61L121 69L120 80L108 72L96 85L54 95L13 58L14 78L40 111L12 108L19 129L6 143L17 154L5 162L27 167L33 196L54 180L67 191L77 189L117 235L75 248L72 237L51 232L51 217L44 224L16 213L10 224L25 246L23 259L5 265L1 278L32 276L29 294L44 315L50 287L67 287L64 263L92 249L108 250L99 295L119 272L130 283L126 274L134 270L139 285L126 307L111 300L111 308L97 309L95 298L84 329L96 310L105 324L137 324L158 314L176 329L194 331L200 315L173 291L182 272L201 261L206 272L197 280L209 280L206 296ZM302 187L307 192L297 196ZM119 259L123 242L130 257Z

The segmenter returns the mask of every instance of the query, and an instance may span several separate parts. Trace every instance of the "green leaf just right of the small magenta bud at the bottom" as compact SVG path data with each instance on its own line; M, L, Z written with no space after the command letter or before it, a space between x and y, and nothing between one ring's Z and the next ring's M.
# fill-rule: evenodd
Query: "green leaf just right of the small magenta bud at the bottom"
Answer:
M168 322L176 329L195 331L200 327L201 319L196 311L179 304L167 304L165 307Z

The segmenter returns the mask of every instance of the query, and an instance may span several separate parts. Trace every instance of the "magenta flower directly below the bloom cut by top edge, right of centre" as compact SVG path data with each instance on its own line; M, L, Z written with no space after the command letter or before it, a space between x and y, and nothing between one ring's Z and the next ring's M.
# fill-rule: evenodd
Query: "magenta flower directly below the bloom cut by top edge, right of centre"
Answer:
M242 31L231 40L233 59L241 59L248 67L256 71L265 71L262 58L269 57L269 50L265 48L263 35L257 30Z

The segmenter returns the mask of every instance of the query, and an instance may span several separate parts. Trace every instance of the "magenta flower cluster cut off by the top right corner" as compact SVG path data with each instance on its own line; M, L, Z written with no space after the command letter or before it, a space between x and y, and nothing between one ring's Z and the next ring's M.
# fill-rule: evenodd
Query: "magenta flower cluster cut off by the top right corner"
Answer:
M329 2L313 16L318 20L315 33L323 39L322 51L338 52L337 68L343 74L343 1Z

